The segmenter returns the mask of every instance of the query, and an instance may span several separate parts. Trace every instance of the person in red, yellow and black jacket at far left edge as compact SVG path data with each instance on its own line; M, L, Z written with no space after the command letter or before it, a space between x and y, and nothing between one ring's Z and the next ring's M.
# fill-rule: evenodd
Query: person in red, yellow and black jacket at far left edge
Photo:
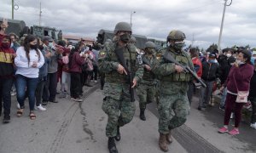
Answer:
M10 121L11 95L10 91L14 80L15 51L10 48L11 39L4 36L0 42L0 116L2 114L3 100L3 122Z

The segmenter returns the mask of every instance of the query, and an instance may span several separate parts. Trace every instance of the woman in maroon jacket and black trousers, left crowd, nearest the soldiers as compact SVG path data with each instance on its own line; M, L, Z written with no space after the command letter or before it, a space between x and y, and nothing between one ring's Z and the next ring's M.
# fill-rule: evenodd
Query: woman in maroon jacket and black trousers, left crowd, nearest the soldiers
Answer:
M81 102L83 99L80 99L80 92L82 90L81 83L81 66L84 65L85 54L79 54L81 49L84 48L84 43L78 42L69 54L69 71L70 71L70 96L74 101Z

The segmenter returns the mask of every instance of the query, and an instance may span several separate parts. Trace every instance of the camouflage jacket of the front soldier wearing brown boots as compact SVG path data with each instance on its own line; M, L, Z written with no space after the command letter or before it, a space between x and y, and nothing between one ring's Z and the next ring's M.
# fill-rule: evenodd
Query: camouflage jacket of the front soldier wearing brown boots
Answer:
M188 82L192 80L192 76L189 73L181 74L184 77L185 81L177 81L177 79L172 79L179 74L175 70L175 64L170 63L164 59L163 55L169 52L174 59L183 59L186 60L186 65L188 65L191 70L194 70L189 54L182 51L180 54L177 54L172 48L163 48L159 54L157 54L157 62L153 65L152 71L154 74L160 76L160 93L162 94L177 94L177 93L186 93L188 90ZM182 72L183 73L183 72ZM170 79L168 79L170 78Z

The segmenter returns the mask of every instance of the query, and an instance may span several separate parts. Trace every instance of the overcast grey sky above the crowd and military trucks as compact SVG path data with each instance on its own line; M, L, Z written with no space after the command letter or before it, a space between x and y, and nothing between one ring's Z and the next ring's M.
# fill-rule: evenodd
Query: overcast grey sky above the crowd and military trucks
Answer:
M172 30L183 31L186 44L200 48L218 43L224 11L224 0L15 0L15 20L38 25L40 2L41 25L63 34L96 38L101 29L113 31L125 21L134 34L160 40ZM256 47L255 6L256 0L233 0L226 7L221 48ZM0 17L11 19L11 0L0 0Z

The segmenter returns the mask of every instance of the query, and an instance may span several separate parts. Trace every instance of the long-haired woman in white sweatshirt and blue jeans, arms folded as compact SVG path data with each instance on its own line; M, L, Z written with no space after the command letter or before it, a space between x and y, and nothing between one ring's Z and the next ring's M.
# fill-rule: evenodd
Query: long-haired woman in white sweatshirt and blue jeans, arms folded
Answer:
M18 48L16 54L17 100L20 104L17 116L22 116L23 114L25 93L27 91L30 108L29 116L34 120L36 119L34 114L35 91L38 85L39 68L44 65L44 55L38 49L37 38L32 35L26 36L24 47Z

